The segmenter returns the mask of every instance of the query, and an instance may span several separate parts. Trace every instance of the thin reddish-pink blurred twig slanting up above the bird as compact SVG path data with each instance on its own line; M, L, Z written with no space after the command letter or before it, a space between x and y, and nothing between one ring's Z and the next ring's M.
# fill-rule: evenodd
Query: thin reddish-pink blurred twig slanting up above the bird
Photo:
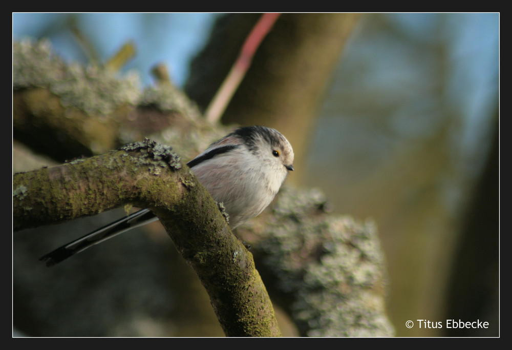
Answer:
M228 75L224 79L221 87L211 100L210 105L206 109L205 117L211 123L217 122L231 100L234 92L237 90L245 73L249 69L252 57L260 46L263 38L270 31L280 13L264 13L258 20L258 23L252 28L249 36L245 40L237 61L231 67Z

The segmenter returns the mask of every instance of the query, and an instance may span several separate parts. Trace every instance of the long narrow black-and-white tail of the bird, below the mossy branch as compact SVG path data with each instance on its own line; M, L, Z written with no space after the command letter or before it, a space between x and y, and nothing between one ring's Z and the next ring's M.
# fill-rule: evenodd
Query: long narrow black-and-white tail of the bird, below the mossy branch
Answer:
M50 252L47 255L39 258L39 260L46 261L47 266L53 266L62 260L66 260L70 256L88 249L94 244L98 244L104 240L117 236L120 233L156 220L158 220L158 218L150 210L139 210L138 212L130 214L117 221L111 222L108 225L81 238L78 238L68 244L62 245L60 248L57 248L53 252Z

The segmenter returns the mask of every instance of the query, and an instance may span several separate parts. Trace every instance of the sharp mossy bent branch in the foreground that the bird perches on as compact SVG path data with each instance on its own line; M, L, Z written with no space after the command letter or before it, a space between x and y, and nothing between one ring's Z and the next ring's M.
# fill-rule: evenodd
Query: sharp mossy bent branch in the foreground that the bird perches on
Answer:
M227 336L279 336L252 254L180 157L145 140L103 155L13 176L13 227L94 215L132 203L151 209L199 276Z

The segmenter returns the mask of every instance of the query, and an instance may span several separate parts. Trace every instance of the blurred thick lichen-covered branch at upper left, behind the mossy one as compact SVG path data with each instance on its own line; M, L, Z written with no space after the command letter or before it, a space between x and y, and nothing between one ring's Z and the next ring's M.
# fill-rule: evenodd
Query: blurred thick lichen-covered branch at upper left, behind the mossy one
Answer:
M102 154L169 126L211 128L171 84L66 64L46 40L13 43L13 136L58 162ZM174 144L174 143L173 143Z

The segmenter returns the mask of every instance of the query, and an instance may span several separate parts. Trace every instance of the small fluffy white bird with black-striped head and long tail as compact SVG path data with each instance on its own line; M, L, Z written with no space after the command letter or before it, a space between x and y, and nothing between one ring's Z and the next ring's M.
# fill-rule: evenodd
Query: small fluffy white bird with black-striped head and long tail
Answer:
M293 171L293 149L277 130L243 127L212 143L187 166L212 198L223 203L229 226L235 229L259 215L274 199L288 172ZM156 220L158 218L149 209L139 210L39 260L53 266L92 245Z

